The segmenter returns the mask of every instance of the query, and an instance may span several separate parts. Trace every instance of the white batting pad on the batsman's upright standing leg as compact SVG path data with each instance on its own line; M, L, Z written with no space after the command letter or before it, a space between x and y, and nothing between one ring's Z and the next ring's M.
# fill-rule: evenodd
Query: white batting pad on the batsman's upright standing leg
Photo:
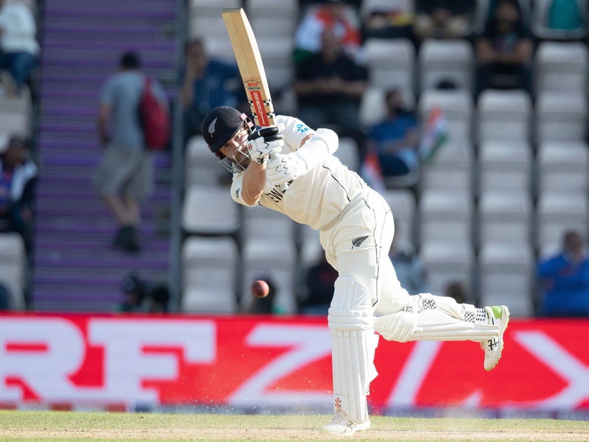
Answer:
M358 423L368 419L366 394L376 375L378 335L372 328L372 301L352 278L337 278L327 321L332 337L334 410Z

